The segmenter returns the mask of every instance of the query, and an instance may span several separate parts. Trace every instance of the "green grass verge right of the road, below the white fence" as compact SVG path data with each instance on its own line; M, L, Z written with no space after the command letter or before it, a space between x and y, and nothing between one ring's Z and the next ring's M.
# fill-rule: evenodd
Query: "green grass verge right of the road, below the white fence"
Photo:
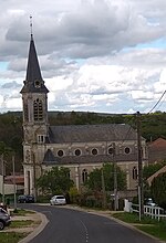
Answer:
M139 221L139 218L136 213L127 212L112 213L112 216L123 222L129 223L138 230L148 233L149 235L153 235L162 241L166 241L166 220L158 221L148 216L143 216Z

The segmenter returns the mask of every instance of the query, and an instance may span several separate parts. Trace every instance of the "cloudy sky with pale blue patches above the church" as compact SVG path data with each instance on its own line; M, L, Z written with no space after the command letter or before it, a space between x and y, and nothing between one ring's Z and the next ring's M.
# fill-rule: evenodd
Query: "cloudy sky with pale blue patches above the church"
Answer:
M31 31L49 110L166 110L165 0L0 0L0 113L22 110Z

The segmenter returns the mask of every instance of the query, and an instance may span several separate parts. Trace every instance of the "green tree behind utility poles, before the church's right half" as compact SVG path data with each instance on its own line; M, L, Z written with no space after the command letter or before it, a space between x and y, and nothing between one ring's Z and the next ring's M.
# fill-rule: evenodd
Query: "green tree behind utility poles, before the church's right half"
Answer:
M114 190L114 165L113 163L104 163L103 168L94 169L90 175L89 179L85 182L85 186L89 189L94 191L102 191L102 170L105 183L105 190L112 191ZM126 188L126 175L121 170L118 166L116 166L116 175L117 175L117 189L124 190Z

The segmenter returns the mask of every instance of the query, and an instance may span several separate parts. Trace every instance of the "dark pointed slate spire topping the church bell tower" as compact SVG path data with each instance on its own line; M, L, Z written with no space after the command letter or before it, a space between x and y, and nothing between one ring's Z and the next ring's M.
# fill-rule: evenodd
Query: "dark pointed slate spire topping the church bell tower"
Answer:
M35 92L48 93L49 92L44 85L44 81L42 80L41 70L40 70L32 34L31 34L30 49L29 49L27 76L24 81L24 86L21 89L21 93L27 93L27 92L30 92L30 93L35 93Z

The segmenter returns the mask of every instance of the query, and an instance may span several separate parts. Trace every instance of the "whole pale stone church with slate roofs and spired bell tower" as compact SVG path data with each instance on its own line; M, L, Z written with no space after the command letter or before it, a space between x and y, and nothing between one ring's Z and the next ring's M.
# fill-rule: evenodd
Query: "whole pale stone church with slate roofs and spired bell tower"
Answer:
M137 187L137 133L127 124L50 126L48 93L34 38L31 33L27 75L21 89L23 105L24 193L37 194L35 180L52 167L66 167L81 190L89 173L105 162L126 172L127 189ZM147 162L142 137L143 165Z

